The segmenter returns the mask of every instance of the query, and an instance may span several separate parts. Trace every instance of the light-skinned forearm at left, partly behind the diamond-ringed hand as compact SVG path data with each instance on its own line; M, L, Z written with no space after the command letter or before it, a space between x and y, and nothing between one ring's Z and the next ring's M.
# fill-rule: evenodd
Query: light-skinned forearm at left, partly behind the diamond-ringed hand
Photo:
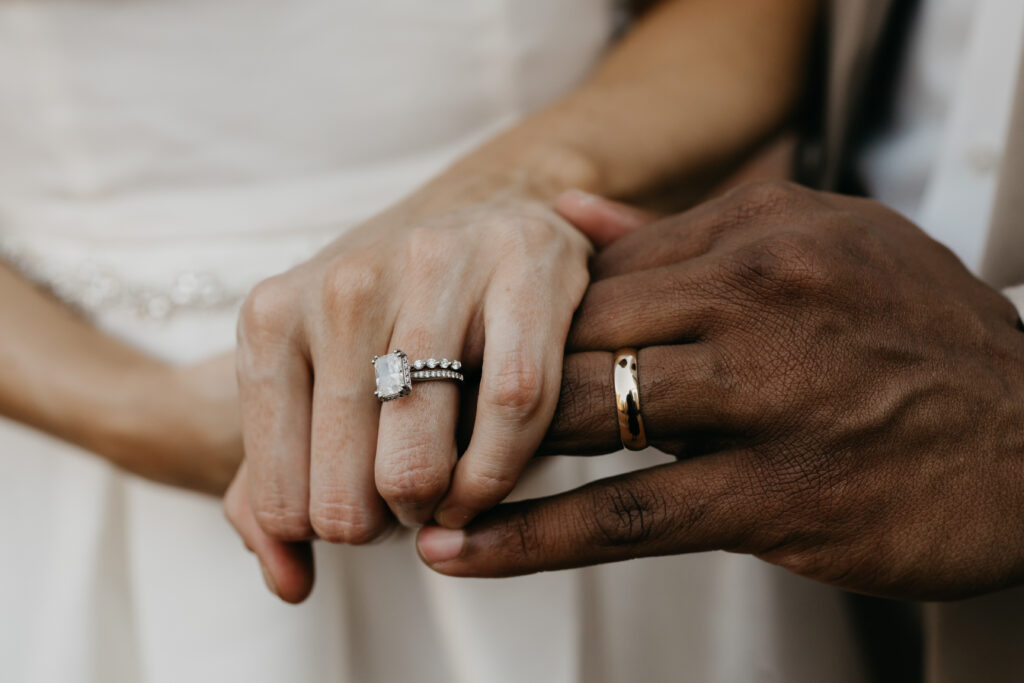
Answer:
M0 263L0 415L140 476L220 495L242 461L233 353L184 367L92 327Z

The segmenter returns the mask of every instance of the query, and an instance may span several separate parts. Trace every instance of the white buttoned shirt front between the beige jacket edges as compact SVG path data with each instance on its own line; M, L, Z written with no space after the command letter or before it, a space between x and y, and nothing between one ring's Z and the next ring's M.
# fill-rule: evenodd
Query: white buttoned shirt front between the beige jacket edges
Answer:
M896 119L863 157L869 194L977 271L1017 83L1024 3L925 0Z

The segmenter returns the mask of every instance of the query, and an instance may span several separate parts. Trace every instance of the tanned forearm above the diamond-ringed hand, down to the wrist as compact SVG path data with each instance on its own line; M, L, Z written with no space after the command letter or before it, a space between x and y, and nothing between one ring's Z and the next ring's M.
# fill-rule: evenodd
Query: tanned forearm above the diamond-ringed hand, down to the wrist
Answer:
M665 2L587 83L457 162L413 204L430 213L451 194L502 189L545 201L568 187L629 196L734 159L791 112L816 5Z

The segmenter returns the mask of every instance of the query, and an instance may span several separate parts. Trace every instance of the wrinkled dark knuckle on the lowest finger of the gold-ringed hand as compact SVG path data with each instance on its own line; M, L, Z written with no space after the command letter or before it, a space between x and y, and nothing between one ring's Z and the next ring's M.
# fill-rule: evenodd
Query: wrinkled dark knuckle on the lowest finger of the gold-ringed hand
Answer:
M654 536L668 518L668 503L656 492L637 483L612 482L590 492L590 536L605 547L632 546Z

